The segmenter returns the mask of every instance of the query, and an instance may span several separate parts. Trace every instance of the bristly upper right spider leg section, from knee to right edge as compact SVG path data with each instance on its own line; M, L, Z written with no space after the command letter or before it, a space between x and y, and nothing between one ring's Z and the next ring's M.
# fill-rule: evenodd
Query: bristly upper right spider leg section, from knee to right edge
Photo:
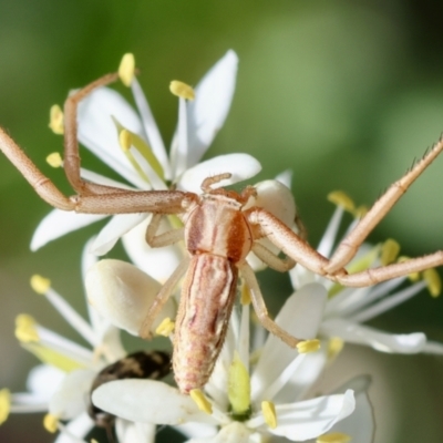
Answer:
M328 274L334 274L343 268L357 254L360 245L364 241L372 229L391 210L392 206L408 190L412 183L443 151L443 137L423 156L402 178L393 183L388 190L373 204L371 209L361 218L358 225L348 234L337 247L330 258L329 265L324 267ZM420 259L419 259L420 260ZM408 274L408 272L404 272ZM391 277L388 277L391 278Z

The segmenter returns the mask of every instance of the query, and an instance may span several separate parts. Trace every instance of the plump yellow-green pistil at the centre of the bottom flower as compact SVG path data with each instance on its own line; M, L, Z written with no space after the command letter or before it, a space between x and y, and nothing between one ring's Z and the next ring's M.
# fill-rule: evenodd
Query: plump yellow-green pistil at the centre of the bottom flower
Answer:
M249 410L249 373L237 351L234 352L234 359L228 369L228 399L234 414L244 414Z

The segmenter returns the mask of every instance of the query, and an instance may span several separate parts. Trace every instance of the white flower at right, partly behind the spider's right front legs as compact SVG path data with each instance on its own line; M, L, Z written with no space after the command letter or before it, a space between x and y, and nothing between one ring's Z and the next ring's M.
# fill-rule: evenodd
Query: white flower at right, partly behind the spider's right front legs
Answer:
M352 202L342 193L332 193L331 200L338 206L317 249L324 257L331 255L344 210L356 213ZM356 223L351 224L348 231L353 228ZM396 258L399 248L398 244L391 239L375 247L363 245L356 259L348 266L348 270L354 272L391 262ZM443 353L443 346L426 341L426 337L422 332L394 334L363 324L406 301L426 287L432 295L436 296L440 291L440 280L434 269L424 271L422 280L400 289L398 288L408 280L408 277L394 278L365 288L346 288L312 274L300 265L290 270L290 277L295 290L299 290L312 281L320 282L328 290L329 300L319 329L320 337L339 338L350 343L367 344L383 352Z

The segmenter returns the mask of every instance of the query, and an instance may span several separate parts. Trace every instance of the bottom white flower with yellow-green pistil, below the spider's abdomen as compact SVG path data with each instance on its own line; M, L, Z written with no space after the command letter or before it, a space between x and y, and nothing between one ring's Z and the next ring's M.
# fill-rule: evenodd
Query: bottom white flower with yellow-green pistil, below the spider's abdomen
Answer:
M307 285L287 300L276 321L297 337L313 339L326 300L323 286ZM306 399L324 368L326 350L301 354L270 334L249 379L249 361L254 360L249 356L249 306L243 307L240 317L233 313L206 394L192 392L196 402L162 382L121 380L95 390L94 404L130 421L177 426L193 443L277 441L280 436L306 441L328 434L352 413L351 389ZM359 396L365 399L364 389ZM364 420L372 420L367 411ZM370 442L372 427L365 427L371 430L369 439L356 441Z

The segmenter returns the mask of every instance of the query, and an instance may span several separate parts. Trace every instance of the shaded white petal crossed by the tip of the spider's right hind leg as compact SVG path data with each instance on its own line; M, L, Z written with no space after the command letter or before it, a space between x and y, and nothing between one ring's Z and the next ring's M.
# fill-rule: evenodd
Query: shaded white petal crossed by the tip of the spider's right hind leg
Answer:
M326 300L327 291L323 286L303 286L288 298L276 317L276 322L297 338L313 339L317 337ZM279 338L269 334L251 378L254 401L261 399L267 387L280 377L297 356L297 349L289 348Z

